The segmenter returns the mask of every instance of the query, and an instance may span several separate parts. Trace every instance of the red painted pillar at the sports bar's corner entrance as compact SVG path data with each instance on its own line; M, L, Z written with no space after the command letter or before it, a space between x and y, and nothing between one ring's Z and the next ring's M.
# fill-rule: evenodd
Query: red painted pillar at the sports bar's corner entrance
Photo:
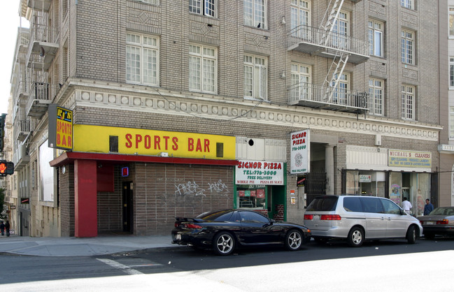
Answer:
M97 161L74 161L74 235L94 238L98 235Z

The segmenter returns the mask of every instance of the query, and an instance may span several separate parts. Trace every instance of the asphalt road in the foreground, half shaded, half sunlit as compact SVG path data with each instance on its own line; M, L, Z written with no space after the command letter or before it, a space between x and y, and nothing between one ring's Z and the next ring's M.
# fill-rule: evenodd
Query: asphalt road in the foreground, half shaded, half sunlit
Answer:
M2 291L452 291L454 239L310 242L241 249L190 247L92 257L0 255ZM437 270L427 266L439 267ZM437 271L437 272L436 272ZM429 285L429 286L427 286Z

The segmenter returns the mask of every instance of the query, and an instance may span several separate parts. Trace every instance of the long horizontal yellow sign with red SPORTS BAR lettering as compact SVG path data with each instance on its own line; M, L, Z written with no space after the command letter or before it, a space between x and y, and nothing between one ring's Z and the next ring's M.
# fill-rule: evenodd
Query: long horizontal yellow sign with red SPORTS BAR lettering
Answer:
M232 159L236 138L113 126L73 125L75 152L113 153L118 141L118 154L159 155L204 159ZM117 153L117 152L115 152Z

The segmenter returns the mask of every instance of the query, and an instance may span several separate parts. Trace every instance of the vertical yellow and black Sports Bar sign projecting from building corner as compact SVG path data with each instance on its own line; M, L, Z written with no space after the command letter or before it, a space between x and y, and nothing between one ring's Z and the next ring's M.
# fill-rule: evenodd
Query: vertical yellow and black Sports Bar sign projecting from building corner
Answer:
M73 111L49 105L49 147L73 149Z

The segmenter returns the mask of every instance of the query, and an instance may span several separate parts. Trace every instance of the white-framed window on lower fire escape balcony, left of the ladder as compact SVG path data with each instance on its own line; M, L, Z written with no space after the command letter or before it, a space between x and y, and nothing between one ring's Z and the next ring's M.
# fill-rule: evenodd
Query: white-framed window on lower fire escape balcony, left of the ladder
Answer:
M292 64L292 101L311 99L311 66Z

